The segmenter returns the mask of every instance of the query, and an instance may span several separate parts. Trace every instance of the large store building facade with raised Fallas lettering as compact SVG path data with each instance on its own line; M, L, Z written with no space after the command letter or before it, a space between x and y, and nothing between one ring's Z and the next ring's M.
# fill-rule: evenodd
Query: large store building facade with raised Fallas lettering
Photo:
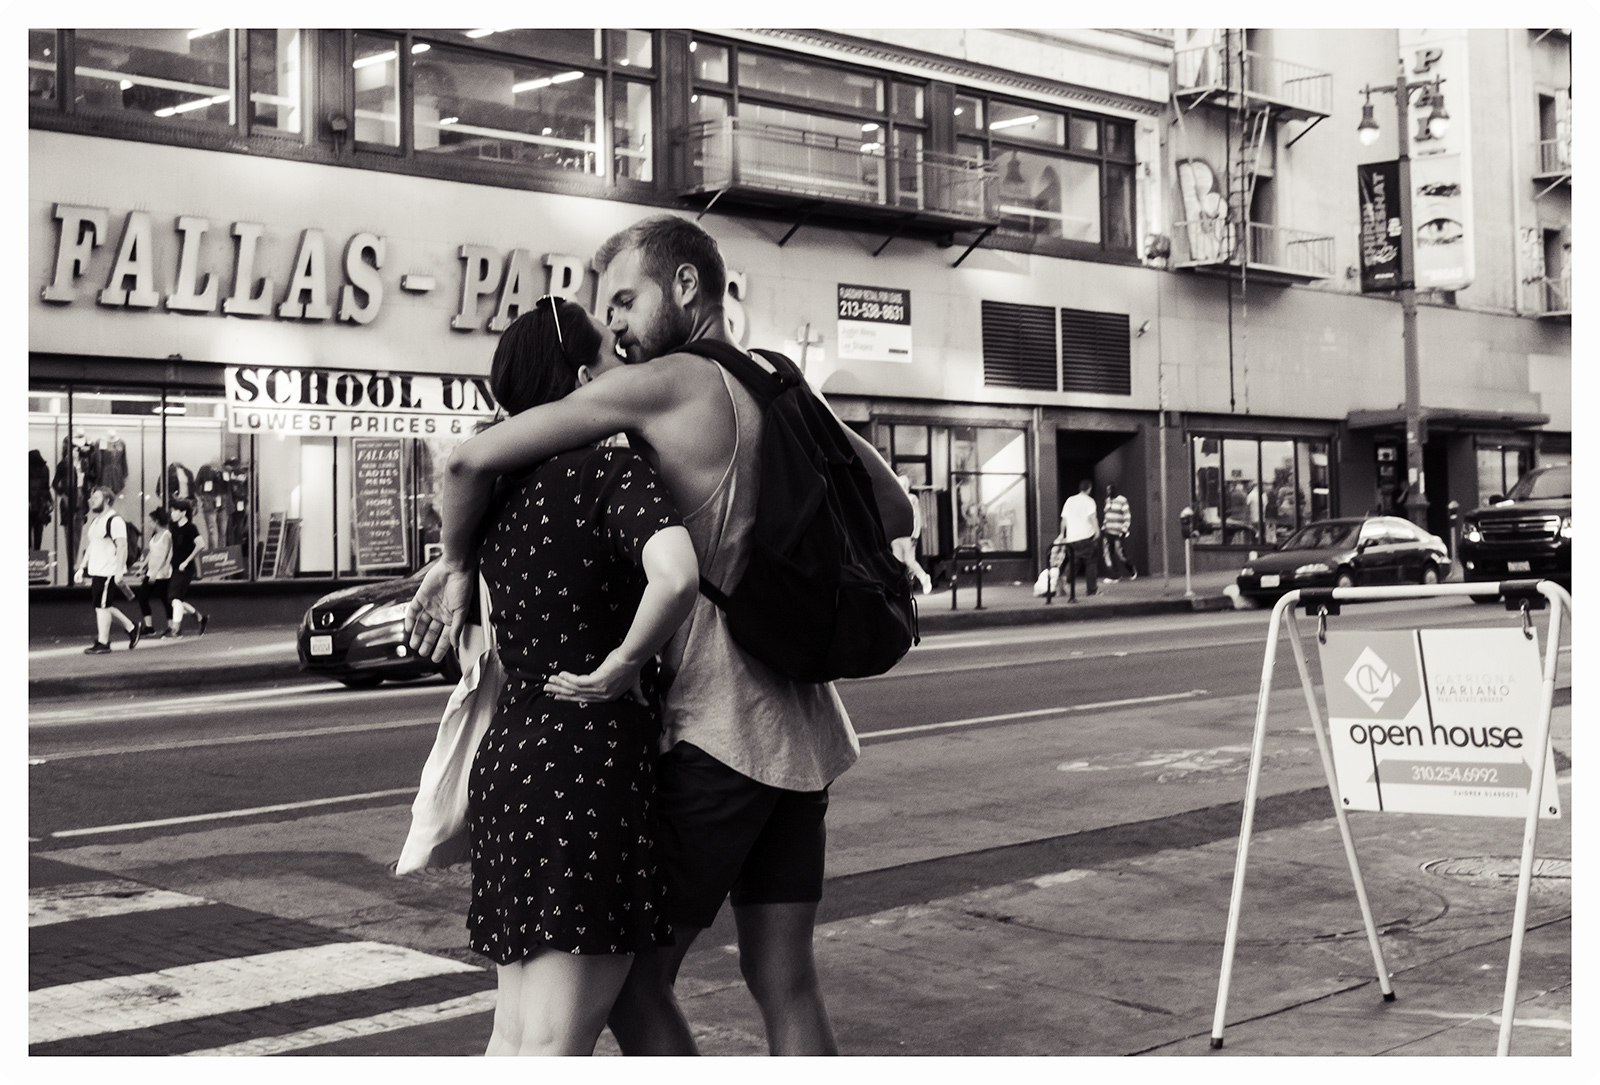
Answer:
M30 583L69 583L93 485L194 498L211 579L418 568L496 334L592 306L589 254L662 210L718 240L738 339L909 477L934 562L1030 578L1080 478L1157 573L1184 507L1218 568L1392 507L1357 166L1394 102L1357 128L1402 59L1446 74L1466 170L1427 221L1470 266L1418 317L1443 533L1570 456L1571 66L1563 30L1427 34L30 30Z

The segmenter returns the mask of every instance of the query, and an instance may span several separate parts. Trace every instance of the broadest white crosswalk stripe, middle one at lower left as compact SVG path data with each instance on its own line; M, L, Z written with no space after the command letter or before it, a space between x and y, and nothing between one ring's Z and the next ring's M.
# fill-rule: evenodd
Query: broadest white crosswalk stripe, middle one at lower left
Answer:
M85 979L29 992L27 1042L149 1029L459 971L480 970L405 946L334 943Z

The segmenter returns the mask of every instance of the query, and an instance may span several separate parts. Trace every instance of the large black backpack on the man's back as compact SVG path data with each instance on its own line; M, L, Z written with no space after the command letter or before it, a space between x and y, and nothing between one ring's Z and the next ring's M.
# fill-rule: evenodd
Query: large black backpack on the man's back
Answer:
M750 557L726 594L701 594L734 642L795 682L862 679L893 667L920 639L906 567L890 552L872 477L843 424L794 362L699 339L682 350L728 370L762 405L762 490Z

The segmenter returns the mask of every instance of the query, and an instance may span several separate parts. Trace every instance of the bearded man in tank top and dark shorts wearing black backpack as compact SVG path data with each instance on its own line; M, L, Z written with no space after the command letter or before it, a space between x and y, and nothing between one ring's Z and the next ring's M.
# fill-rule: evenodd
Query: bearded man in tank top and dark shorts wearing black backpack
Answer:
M856 760L859 743L832 682L811 675L886 669L912 643L909 579L885 559L890 539L912 534L910 499L792 363L750 358L734 346L722 254L698 226L670 214L643 219L606 240L594 266L597 307L632 365L456 448L442 491L443 557L406 610L410 643L440 659L459 631L474 539L498 475L616 432L643 448L685 510L702 587L662 651L670 687L653 855L674 944L634 957L608 1024L627 1055L694 1053L672 984L690 943L731 895L739 965L770 1051L837 1053L811 938L827 787ZM802 453L816 458L802 464ZM782 538L784 523L795 538ZM778 568L786 554L832 586L834 595L813 592L826 605L797 600L803 578ZM891 591L904 595L904 608ZM765 613L752 605L763 594L774 600ZM850 648L859 623L870 624L869 637ZM805 642L794 658L760 645L763 634L781 639L786 624ZM846 658L851 651L877 658L862 663ZM555 674L546 691L595 698L592 675Z

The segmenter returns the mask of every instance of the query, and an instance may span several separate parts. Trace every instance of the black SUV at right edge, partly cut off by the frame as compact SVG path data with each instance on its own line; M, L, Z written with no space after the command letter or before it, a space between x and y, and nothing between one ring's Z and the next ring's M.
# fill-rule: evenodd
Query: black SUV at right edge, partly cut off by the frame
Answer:
M1573 469L1530 470L1504 498L1461 517L1467 581L1546 578L1573 587Z

